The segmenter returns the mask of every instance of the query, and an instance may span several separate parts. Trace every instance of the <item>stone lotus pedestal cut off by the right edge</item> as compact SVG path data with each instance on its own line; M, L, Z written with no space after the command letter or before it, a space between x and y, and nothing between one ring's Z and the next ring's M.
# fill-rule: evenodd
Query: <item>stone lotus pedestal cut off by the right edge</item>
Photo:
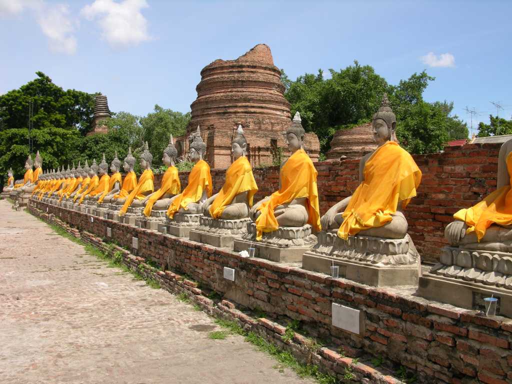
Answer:
M418 294L468 309L483 309L483 298L494 295L496 313L512 317L512 253L444 247L440 263L419 279Z

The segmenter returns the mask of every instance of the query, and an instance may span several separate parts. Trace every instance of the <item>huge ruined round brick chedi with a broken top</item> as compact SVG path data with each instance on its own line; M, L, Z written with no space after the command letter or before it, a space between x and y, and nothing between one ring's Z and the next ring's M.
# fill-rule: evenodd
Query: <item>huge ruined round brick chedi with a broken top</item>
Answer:
M187 137L200 125L208 147L205 160L212 168L227 168L231 141L241 124L251 164L271 164L272 148L286 148L284 132L291 125L290 104L280 75L264 44L236 60L218 59L204 67L196 87L197 99L190 106L186 136L177 139L179 155L188 153ZM316 161L318 138L309 133L305 141L306 151Z

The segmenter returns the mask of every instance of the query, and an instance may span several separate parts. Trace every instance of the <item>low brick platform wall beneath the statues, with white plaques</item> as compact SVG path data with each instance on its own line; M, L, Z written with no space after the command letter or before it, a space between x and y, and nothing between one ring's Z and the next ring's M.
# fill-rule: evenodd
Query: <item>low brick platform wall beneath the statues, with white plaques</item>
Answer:
M261 309L286 325L301 321L311 336L344 346L350 356L371 354L405 366L418 382L505 384L512 380L512 320L481 317L474 311L427 301L411 289L373 288L346 279L331 279L286 264L246 259L238 253L67 209L36 206L79 231L99 238L112 228L112 240L172 273L190 276L203 287L250 309ZM40 215L34 207L35 215ZM109 239L106 239L107 241ZM135 252L135 250L134 250ZM223 267L236 269L236 281L223 279ZM167 275L167 272L164 272ZM365 314L365 330L352 334L331 325L331 303ZM337 348L336 348L337 346ZM333 353L332 359L343 356Z

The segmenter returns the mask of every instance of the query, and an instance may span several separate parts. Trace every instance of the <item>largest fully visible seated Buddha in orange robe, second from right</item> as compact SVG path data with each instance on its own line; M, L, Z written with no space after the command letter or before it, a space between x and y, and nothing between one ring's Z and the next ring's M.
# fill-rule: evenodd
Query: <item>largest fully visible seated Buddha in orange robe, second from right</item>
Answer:
M338 237L364 236L403 239L408 224L402 210L416 196L421 171L396 142L396 117L384 94L372 118L377 149L359 162L360 184L322 217L322 227L337 229Z

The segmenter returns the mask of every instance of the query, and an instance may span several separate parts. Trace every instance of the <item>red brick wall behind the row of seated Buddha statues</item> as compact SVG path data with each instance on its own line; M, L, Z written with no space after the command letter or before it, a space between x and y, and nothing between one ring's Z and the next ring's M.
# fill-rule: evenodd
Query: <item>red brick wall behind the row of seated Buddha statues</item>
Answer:
M446 147L444 153L415 155L423 178L406 210L409 234L423 262L439 260L440 249L446 245L444 227L453 220L460 208L467 208L496 189L498 152L500 144L466 144ZM359 185L359 160L325 161L315 163L318 171L320 210L325 214L333 204L350 196ZM279 167L254 169L260 188L254 201L269 196L278 188ZM212 169L214 193L224 184L224 169ZM182 188L187 185L188 173L180 173ZM160 175L155 185L160 185Z

